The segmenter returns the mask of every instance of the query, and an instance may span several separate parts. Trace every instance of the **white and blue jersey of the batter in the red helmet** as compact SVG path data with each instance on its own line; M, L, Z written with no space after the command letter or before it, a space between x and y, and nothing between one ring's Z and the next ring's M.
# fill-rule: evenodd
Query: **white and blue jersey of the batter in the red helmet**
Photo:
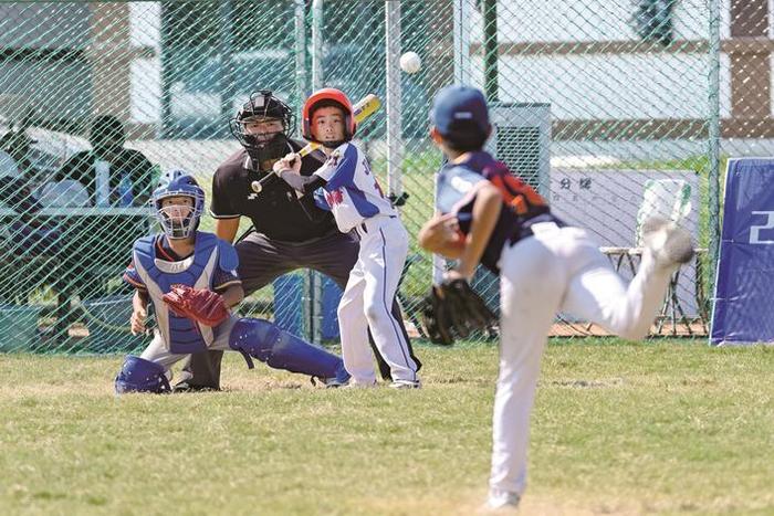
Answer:
M325 202L343 233L373 217L397 215L372 172L368 158L353 144L337 147L314 173L327 181L323 187Z

